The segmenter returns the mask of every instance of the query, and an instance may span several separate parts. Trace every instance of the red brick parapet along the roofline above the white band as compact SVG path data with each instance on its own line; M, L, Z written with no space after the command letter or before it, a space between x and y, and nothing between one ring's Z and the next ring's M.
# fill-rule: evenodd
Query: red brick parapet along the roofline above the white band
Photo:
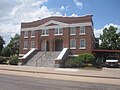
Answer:
M51 16L51 17L47 17L47 18L33 21L33 22L27 22L27 23L22 22L21 28L37 27L51 20L55 20L55 21L59 21L67 24L92 22L92 16L93 15L86 15L81 17Z

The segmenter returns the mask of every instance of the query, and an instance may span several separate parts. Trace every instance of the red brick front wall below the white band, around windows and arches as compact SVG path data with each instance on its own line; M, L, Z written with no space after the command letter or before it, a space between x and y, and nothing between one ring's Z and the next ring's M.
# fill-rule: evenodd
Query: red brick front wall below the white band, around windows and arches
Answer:
M80 54L80 53L91 53L93 47L93 39L92 39L92 28L91 26L85 27L85 35L79 35L80 27L76 28L76 35L70 35L70 28L63 28L63 35L54 35L54 29L49 30L49 36L41 36L41 31L36 31L35 38L31 38L31 32L28 32L28 38L23 38L23 32L21 32L20 38L20 53L26 53L30 50L30 41L35 40L35 47L41 50L41 43L43 40L49 41L49 50L55 50L55 40L62 39L64 48L70 48L70 39L76 39L76 49L71 49L72 54ZM79 49L80 39L86 40L86 49ZM23 50L24 40L28 40L28 50Z

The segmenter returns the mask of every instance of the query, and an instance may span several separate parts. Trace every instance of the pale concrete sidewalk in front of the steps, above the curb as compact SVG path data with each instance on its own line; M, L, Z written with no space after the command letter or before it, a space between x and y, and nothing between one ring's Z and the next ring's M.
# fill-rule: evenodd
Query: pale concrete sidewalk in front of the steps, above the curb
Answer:
M66 68L0 65L0 70L68 75L68 76L81 76L81 77L94 77L94 78L120 79L119 68L103 68L102 71L95 71L95 70L81 70L81 69L71 69L71 68L66 69Z

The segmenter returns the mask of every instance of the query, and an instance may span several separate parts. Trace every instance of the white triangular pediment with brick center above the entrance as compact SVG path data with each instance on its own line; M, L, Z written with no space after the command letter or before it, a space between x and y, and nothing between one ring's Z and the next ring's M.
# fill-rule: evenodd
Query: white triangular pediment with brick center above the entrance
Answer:
M55 20L50 20L42 25L39 26L39 28L44 28L44 27L52 27L52 26L64 26L68 25L67 23L55 21Z

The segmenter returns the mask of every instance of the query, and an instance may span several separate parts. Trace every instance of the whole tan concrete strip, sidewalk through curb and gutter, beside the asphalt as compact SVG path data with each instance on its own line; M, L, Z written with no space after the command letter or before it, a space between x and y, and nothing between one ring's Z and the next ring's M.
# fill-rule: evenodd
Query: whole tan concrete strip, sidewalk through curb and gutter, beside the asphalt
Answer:
M66 68L0 65L0 74L19 75L53 80L120 85L120 69L118 68L103 68L101 71L96 71Z

